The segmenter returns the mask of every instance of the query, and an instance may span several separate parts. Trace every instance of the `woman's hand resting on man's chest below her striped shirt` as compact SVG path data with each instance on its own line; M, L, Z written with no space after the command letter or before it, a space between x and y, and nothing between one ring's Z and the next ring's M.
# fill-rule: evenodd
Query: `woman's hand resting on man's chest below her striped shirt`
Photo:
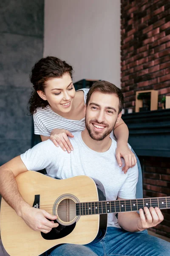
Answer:
M62 150L67 151L70 153L73 150L73 146L71 145L69 137L74 137L74 135L65 129L54 129L51 131L50 140L56 145L57 147L61 147Z

